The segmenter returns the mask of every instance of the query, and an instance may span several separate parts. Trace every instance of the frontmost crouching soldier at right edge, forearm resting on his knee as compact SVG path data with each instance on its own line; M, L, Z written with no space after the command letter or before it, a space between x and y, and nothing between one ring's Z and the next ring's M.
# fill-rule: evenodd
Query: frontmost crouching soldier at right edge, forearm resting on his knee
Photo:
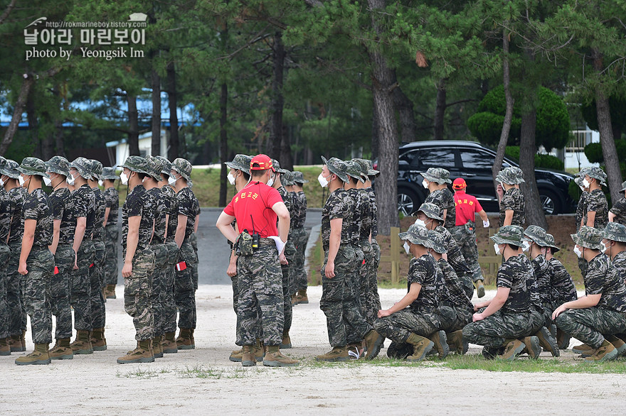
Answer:
M585 296L556 308L552 319L568 335L580 339L593 351L585 361L606 361L620 351L603 334L626 332L626 285L608 256L601 252L603 231L581 226L572 234L577 256L588 261Z

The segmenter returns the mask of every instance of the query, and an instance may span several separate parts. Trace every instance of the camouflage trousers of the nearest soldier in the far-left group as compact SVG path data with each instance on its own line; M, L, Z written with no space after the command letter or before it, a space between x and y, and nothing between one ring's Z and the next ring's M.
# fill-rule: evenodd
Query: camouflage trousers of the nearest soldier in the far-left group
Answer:
M28 273L21 279L26 314L31 317L34 344L52 342L52 310L50 280L54 270L54 256L48 247L31 249L26 258Z

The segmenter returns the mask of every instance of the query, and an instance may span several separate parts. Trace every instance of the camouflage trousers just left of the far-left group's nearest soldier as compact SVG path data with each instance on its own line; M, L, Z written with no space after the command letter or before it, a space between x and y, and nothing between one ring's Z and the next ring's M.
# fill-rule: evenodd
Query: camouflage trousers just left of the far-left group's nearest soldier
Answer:
M21 295L21 275L17 272L22 243L21 241L10 242L9 248L11 256L6 266L6 301L9 303L9 332L11 336L14 336L26 331L26 310L24 310Z

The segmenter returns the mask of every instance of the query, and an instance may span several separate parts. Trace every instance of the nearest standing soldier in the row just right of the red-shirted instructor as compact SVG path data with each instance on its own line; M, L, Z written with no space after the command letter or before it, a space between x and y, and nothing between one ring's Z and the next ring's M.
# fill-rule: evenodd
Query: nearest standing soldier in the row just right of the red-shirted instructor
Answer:
M333 349L317 356L318 361L346 361L348 358L346 328L367 345L366 358L373 358L380 351L384 338L374 331L361 316L355 294L350 288L349 273L354 273L356 254L351 246L352 215L354 201L343 189L348 182L346 163L337 159L322 158L324 166L318 180L322 187L329 187L329 197L322 209L322 300L319 308L327 320L328 339Z

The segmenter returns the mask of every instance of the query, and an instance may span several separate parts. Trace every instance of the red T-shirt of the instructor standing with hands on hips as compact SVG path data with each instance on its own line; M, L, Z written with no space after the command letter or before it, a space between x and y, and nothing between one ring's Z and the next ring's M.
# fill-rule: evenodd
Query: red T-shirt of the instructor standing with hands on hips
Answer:
M278 216L272 209L277 202L282 202L277 190L263 182L250 182L233 197L224 212L237 219L240 232L248 230L250 235L257 233L267 238L278 235Z

